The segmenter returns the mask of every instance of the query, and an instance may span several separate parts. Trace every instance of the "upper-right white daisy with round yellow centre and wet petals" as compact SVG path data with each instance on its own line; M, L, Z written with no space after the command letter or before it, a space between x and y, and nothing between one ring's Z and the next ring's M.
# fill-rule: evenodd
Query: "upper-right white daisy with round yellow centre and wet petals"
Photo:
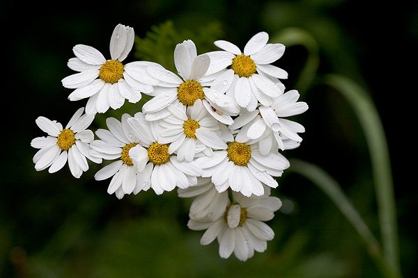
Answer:
M242 52L235 44L215 41L222 51L211 51L207 74L218 74L215 82L242 107L254 111L257 104L270 105L274 97L284 92L279 79L287 79L286 71L271 65L283 56L285 46L268 43L268 33L260 32L245 44ZM219 74L219 72L223 72Z

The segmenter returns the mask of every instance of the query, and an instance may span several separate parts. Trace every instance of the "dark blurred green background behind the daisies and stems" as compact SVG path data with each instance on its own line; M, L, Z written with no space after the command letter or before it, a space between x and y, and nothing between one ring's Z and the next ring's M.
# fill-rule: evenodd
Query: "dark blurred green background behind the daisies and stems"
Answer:
M314 75L301 74L311 57L306 45L287 47L277 61L288 71L287 90L300 90L300 100L309 104L295 118L306 128L304 141L284 155L314 163L339 181L380 238L364 133L346 99L321 78L341 74L369 93L389 145L402 274L417 277L412 144L417 7L414 1L357 0L3 1L0 276L381 277L355 229L327 195L291 170L272 190L284 201L268 222L274 240L245 263L233 256L220 259L217 243L199 244L203 233L187 229L191 200L176 192L157 197L150 190L119 200L107 194L108 180L94 181L100 165L91 164L81 179L72 177L68 166L56 174L34 170L36 149L30 142L44 136L36 117L66 124L85 104L68 101L70 90L61 85L73 73L66 65L74 56L72 47L88 44L109 58L116 24L132 26L145 38L152 26L169 21L201 43L199 54L216 49L205 38L229 40L243 49L258 31L280 38L295 27L314 40L319 61ZM125 61L136 60L135 55L145 54L132 51ZM100 126L95 124L93 130Z

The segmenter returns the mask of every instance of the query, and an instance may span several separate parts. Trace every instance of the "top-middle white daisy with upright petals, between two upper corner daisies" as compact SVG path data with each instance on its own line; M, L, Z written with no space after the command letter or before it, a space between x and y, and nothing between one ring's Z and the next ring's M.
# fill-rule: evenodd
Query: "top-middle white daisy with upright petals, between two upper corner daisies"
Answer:
M166 108L173 101L192 106L196 99L201 99L211 115L224 124L231 124L231 116L238 115L240 109L233 99L218 92L215 87L209 88L213 79L206 76L210 65L209 56L197 56L194 42L185 40L174 49L174 64L178 75L163 68L148 67L148 74L160 83L154 87L155 97L142 107L146 120L167 117L170 112Z

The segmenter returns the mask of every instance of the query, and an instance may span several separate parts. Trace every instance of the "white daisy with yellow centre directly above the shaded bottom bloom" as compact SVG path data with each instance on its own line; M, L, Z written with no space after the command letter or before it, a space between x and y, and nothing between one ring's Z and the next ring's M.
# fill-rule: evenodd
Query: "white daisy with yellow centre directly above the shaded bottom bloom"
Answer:
M258 144L239 142L236 138L226 149L213 152L211 157L196 158L196 162L203 169L202 177L212 177L219 193L231 188L247 197L263 195L263 183L276 188L278 184L273 177L280 177L290 166L282 154L263 155Z

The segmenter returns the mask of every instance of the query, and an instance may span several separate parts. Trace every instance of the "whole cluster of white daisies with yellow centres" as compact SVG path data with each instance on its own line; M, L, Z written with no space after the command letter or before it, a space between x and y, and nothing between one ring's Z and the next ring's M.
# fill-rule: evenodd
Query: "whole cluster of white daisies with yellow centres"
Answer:
M109 194L121 199L152 188L157 195L178 188L194 197L189 229L206 230L201 244L219 243L219 255L241 261L266 250L274 232L265 221L281 206L270 188L290 166L280 153L300 145L304 127L286 117L307 111L297 90L285 92L286 71L272 65L284 45L268 43L260 32L244 51L225 40L222 50L197 54L192 40L174 49L177 72L149 61L123 64L134 44L134 30L118 24L111 35L110 60L97 49L77 44L65 77L68 99L87 99L63 126L45 117L36 124L47 133L31 141L39 149L35 169L50 173L68 161L76 178L94 163L112 161L96 174L109 179ZM108 117L107 129L87 129L97 113L152 98L135 115Z

